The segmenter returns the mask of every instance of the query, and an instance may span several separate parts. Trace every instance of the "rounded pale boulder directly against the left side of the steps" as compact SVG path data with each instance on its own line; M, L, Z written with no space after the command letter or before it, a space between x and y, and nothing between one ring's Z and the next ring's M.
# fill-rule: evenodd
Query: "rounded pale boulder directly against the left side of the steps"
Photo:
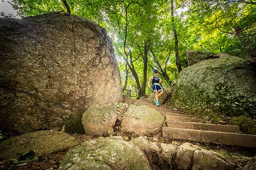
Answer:
M122 116L121 131L150 136L160 133L163 120L161 113L153 108L131 105Z

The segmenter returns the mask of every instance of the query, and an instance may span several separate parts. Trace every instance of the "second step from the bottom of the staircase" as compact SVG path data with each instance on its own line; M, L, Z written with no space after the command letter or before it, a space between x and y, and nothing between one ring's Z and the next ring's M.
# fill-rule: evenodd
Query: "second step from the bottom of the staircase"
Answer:
M194 122L176 122L176 121L167 121L167 127L175 127L180 129L194 129L194 130L211 130L211 131L220 131L220 132L229 132L229 133L239 133L239 126L230 126L230 125L214 125L206 123L194 123Z

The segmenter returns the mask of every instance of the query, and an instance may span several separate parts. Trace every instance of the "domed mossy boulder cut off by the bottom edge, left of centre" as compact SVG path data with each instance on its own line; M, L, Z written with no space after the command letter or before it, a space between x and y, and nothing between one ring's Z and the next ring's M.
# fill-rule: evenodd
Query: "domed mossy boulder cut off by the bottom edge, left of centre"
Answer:
M59 170L151 170L139 147L114 136L88 140L64 156Z

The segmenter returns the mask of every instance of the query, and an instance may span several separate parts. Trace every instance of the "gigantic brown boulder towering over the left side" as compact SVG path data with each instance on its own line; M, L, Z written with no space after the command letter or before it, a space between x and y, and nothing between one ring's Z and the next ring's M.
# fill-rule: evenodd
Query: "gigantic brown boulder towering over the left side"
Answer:
M82 133L89 105L122 101L112 42L93 21L58 12L2 19L0 60L0 127L9 133Z

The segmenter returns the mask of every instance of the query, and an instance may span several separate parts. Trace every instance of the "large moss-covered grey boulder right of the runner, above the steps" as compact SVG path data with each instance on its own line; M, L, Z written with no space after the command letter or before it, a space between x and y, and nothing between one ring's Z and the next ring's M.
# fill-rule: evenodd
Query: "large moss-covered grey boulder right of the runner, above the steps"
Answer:
M256 115L256 73L239 57L207 59L180 72L171 102L190 114Z

